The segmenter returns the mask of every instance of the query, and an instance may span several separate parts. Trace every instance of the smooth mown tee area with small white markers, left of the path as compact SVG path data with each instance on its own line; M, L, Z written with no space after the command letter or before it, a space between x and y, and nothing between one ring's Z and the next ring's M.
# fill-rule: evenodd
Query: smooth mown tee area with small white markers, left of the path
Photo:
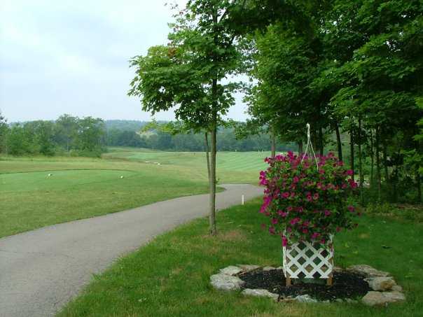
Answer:
M48 176L48 175L51 176ZM34 171L26 173L0 174L0 192L25 192L29 190L61 190L77 185L125 182L125 178L136 174L132 171L107 169ZM120 178L123 176L123 178Z

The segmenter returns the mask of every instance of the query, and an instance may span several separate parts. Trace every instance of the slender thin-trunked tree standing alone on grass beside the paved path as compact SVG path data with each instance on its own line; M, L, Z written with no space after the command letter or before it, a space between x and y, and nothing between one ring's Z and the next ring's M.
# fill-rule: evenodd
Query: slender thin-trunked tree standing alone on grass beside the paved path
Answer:
M131 61L136 76L129 94L141 98L144 111L174 108L176 118L190 129L210 134L210 234L216 234L216 132L239 87L226 80L237 70L239 58L228 13L241 2L246 1L188 1L170 24L169 44Z

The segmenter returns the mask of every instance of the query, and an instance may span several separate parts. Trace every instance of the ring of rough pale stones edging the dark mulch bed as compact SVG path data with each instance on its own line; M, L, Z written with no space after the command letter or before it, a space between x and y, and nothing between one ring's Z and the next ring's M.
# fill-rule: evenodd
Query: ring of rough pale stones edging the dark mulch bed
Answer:
M259 265L230 265L220 269L219 274L210 276L210 283L217 290L241 290L245 282L238 277L242 273L251 272L262 269L270 271L272 269L282 269L282 267L260 267ZM340 267L334 267L334 271L342 271ZM368 283L370 290L361 302L368 306L387 305L393 302L405 301L403 288L396 284L394 278L388 273L370 267L370 265L352 265L347 267L345 271L353 272L365 276L364 281ZM309 295L298 295L297 297L280 298L279 294L270 293L268 290L246 288L242 290L242 295L256 297L270 297L275 302L318 302ZM324 301L329 302L329 301ZM336 302L344 302L338 299ZM356 303L356 300L346 299L345 302Z

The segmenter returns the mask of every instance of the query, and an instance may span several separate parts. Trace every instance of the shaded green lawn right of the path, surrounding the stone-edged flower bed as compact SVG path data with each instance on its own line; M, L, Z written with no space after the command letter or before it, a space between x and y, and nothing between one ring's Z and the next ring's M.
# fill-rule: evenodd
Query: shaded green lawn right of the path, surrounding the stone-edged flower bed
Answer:
M335 239L337 265L391 272L405 290L405 304L279 304L214 290L209 276L219 268L281 264L280 241L260 229L259 206L255 200L221 211L217 237L207 235L206 219L162 234L94 276L58 316L421 316L423 224L407 220L363 216L356 230Z

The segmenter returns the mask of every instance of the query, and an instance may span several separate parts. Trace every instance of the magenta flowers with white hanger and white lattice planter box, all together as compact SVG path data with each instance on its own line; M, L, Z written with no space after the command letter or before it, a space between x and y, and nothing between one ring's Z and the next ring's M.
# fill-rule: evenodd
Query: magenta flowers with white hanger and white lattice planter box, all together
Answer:
M359 216L348 203L356 188L352 171L333 153L314 155L312 151L312 156L297 156L289 152L265 162L269 167L260 175L265 186L260 212L270 218L270 234L282 239L286 283L319 278L331 284L333 236L355 227L353 218Z

